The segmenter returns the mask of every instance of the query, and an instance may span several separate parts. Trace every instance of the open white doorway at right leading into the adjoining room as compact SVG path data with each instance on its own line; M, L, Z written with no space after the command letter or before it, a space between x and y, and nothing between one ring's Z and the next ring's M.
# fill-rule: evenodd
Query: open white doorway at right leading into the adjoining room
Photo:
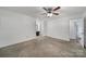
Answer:
M84 47L84 20L82 17L70 21L70 38L77 39Z

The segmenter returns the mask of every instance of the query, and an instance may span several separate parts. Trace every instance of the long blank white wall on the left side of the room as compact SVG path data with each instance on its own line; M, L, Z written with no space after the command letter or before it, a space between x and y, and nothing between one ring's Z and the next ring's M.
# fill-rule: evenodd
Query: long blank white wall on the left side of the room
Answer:
M35 18L0 9L0 47L35 37Z

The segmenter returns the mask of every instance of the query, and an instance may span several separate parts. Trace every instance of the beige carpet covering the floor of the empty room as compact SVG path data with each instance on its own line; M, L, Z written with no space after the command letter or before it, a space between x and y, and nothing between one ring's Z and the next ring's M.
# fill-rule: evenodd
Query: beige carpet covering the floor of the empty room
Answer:
M36 39L8 46L0 49L0 56L4 57L70 57L86 56L86 50L75 41L64 41L51 37Z

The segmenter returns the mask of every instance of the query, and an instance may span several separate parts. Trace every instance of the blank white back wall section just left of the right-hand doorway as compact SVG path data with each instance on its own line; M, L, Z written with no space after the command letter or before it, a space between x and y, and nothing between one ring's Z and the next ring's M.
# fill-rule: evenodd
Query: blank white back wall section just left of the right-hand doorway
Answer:
M47 35L53 38L70 40L70 22L67 17L60 17L47 22Z

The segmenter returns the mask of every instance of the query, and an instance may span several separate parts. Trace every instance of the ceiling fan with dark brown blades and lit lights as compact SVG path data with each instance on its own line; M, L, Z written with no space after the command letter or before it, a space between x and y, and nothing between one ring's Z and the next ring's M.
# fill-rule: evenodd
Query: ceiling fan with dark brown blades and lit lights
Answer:
M52 15L59 15L59 13L57 13L56 11L58 11L59 9L61 9L61 7L57 7L57 8L42 8L47 13L46 14L48 17L52 16Z

